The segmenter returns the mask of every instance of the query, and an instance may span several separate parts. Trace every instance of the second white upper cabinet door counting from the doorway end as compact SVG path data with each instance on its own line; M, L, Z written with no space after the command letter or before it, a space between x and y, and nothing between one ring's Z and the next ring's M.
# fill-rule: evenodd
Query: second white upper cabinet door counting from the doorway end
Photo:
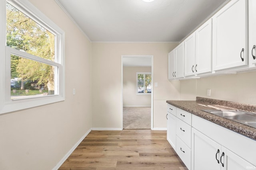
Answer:
M184 77L184 42L175 48L175 66L176 72L174 72L175 78Z

